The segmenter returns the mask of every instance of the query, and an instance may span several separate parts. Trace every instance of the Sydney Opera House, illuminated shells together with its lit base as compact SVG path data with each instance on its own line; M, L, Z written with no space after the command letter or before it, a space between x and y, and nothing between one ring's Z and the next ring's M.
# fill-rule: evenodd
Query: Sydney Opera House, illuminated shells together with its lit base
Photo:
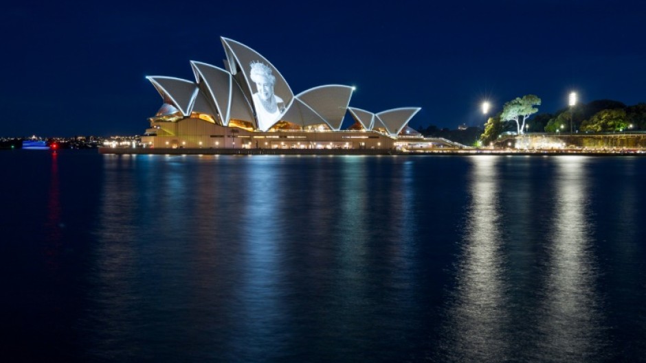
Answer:
M165 149L382 149L421 145L408 127L420 108L372 113L350 107L351 86L294 94L278 69L253 49L221 38L225 67L190 62L195 80L149 76L164 100L142 137ZM354 124L342 130L348 113Z

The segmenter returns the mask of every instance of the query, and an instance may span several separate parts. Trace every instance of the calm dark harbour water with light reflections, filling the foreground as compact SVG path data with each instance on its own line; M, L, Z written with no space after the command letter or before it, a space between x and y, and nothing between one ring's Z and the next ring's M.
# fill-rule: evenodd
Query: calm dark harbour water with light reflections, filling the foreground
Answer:
M3 362L646 361L646 158L0 166Z

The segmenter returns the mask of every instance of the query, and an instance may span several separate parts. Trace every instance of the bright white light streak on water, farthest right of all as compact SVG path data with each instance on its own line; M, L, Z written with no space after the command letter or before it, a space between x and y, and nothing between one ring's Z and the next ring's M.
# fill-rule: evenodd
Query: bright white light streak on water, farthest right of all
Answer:
M603 352L603 316L592 250L588 159L557 159L555 214L548 237L537 347L531 360L597 362Z

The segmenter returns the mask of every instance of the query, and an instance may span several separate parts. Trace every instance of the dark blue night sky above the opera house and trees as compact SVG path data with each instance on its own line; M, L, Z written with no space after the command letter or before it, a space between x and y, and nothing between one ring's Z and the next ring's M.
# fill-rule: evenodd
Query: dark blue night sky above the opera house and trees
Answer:
M223 67L219 37L263 54L294 93L357 86L350 106L421 106L413 127L484 124L528 93L539 112L646 102L643 1L14 1L3 33L1 136L141 134L161 97L144 77ZM346 121L349 116L346 115Z

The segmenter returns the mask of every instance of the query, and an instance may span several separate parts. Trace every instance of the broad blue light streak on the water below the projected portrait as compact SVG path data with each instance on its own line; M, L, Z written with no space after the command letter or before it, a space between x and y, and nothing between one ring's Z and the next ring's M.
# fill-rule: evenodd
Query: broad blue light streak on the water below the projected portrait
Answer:
M278 161L273 159L271 161ZM292 196L287 193L289 180L266 158L243 161L247 169L239 175L238 185L244 196L240 220L245 229L238 236L241 244L241 281L236 288L236 322L231 334L232 356L228 360L259 362L267 356L267 347L285 351L288 340L285 329L286 287L282 281L282 258L285 246L287 215L281 203ZM241 165L242 166L242 165Z

